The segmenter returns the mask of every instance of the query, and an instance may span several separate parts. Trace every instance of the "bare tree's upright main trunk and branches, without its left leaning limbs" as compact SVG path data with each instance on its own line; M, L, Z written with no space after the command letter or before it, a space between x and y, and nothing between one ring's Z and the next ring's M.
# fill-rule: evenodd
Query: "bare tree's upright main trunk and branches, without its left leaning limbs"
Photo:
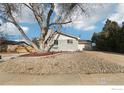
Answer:
M24 4L27 6L34 14L40 29L41 29L41 37L40 37L40 45L42 45L42 50L48 51L51 44L46 42L46 36L49 29L53 29L54 31L61 30L62 25L68 24L72 22L73 14L76 12L81 12L86 14L88 9L87 4ZM50 34L49 34L50 36ZM49 37L48 36L48 37ZM50 39L52 39L51 37ZM49 40L50 41L50 40Z

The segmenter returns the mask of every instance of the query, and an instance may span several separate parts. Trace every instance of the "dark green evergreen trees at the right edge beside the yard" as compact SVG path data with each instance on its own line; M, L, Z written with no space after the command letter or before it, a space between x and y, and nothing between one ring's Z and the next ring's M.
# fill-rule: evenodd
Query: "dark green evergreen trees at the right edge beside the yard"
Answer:
M124 52L124 22L120 27L117 22L107 19L102 31L93 34L92 41L97 50Z

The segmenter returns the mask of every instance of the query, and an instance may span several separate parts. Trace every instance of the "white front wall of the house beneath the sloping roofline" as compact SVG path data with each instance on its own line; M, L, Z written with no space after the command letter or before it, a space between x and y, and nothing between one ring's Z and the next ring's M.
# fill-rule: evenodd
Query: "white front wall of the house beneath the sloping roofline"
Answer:
M54 40L56 40L57 35ZM58 45L54 45L51 51L78 51L78 40L76 40L75 38L59 35L57 40ZM73 40L73 43L67 43L67 40Z

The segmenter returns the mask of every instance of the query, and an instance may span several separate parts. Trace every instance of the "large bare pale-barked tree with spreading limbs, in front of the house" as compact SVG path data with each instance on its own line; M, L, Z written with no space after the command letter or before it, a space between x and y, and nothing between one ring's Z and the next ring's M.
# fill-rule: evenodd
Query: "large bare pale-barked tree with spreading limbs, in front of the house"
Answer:
M15 15L19 14L19 10L23 9L21 7L27 7L32 11L40 30L41 36L39 39L39 46L33 43L29 37L25 34L19 22L16 20ZM62 25L73 22L73 15L79 14L84 16L88 14L87 10L89 9L88 4L78 4L78 3L68 3L68 4L41 4L41 3L29 3L29 4L0 4L0 17L7 22L14 24L18 30L21 32L22 36L30 43L37 51L48 51L52 44L49 44L52 41L53 36L49 34L48 31L51 29L53 31L60 31ZM76 17L78 17L77 15ZM50 38L49 42L47 38ZM53 43L53 42L52 42Z

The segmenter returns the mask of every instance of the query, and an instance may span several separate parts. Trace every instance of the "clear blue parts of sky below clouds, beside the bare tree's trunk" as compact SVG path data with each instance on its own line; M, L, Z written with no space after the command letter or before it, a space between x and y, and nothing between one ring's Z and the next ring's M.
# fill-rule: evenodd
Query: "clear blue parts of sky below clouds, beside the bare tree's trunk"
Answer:
M21 26L29 28L27 32L27 36L30 38L35 38L41 34L40 28L37 23L34 23L34 24L22 23ZM100 32L102 30L102 27L104 26L104 24L101 22L98 22L96 26L97 27L95 29L89 30L89 31L85 31L83 29L76 29L72 26L63 27L61 31L69 35L80 37L81 39L84 39L84 40L90 40L94 32ZM17 38L22 39L23 37L21 35L13 36L13 39L17 39Z

